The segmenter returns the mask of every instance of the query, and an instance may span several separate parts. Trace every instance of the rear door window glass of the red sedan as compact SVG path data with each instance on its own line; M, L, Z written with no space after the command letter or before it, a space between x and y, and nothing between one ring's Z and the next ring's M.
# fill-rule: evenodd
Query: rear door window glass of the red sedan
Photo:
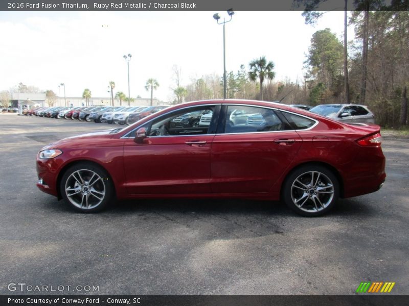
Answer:
M276 112L267 108L229 105L224 133L254 133L283 131L286 127Z

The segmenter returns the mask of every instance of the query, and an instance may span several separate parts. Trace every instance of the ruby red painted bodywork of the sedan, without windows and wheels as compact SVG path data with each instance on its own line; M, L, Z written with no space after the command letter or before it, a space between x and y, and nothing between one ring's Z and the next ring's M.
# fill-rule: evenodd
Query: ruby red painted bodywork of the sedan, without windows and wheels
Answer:
M148 137L142 144L121 138L135 127L189 106L238 104L298 113L318 123L304 131L276 131L172 137ZM341 197L374 192L385 180L385 158L380 146L361 146L357 140L379 133L379 126L353 126L282 104L247 100L212 100L177 105L154 113L116 134L80 135L43 149L60 149L50 160L37 157L40 190L58 196L63 171L88 161L103 167L126 198L234 197L280 199L281 187L294 168L306 163L327 166L338 177ZM294 142L275 142L291 139ZM206 141L187 145L187 140Z

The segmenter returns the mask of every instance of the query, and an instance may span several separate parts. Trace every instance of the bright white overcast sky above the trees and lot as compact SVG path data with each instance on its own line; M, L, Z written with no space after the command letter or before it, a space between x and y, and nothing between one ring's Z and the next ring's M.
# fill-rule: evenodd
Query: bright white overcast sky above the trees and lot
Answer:
M94 97L114 93L150 97L145 84L160 84L154 97L173 98L172 66L181 85L205 74L223 73L223 27L216 12L1 12L0 91L22 82L63 96ZM302 12L236 12L225 24L226 71L237 72L255 58L274 62L275 80L302 80L303 61L315 31L330 28L342 39L344 12L323 14L313 27ZM228 18L225 12L221 17ZM354 31L348 29L348 40Z

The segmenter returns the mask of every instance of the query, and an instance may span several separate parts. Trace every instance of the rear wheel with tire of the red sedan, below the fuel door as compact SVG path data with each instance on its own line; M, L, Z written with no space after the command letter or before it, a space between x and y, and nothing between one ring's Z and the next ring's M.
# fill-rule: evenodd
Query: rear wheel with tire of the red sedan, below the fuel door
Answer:
M320 165L305 165L285 179L282 199L299 215L321 216L328 213L339 196L339 182L332 171Z

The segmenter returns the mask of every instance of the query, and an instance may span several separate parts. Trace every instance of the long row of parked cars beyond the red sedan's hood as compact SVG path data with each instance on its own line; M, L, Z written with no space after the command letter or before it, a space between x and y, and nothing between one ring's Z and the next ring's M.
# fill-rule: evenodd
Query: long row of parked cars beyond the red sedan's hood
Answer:
M26 116L64 118L80 121L131 124L167 106L87 106L87 107L42 107L24 112Z

